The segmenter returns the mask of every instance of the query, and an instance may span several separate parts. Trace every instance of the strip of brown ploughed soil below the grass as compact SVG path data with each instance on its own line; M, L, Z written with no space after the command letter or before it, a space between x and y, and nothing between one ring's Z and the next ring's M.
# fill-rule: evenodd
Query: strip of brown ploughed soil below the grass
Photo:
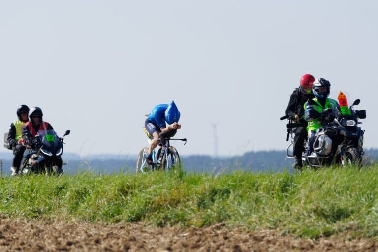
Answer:
M373 240L347 235L320 240L278 231L243 231L222 225L158 228L142 224L88 224L0 220L0 251L378 251Z

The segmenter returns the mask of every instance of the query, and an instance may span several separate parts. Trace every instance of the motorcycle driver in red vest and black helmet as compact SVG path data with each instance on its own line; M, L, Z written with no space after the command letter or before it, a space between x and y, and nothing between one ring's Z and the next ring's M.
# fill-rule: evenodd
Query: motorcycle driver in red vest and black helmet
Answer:
M28 145L28 149L26 149L24 153L24 158L28 158L31 148L33 149L35 147L31 140L37 135L38 131L53 129L48 122L43 121L42 116L42 109L33 107L29 111L29 122L22 127L22 141Z

